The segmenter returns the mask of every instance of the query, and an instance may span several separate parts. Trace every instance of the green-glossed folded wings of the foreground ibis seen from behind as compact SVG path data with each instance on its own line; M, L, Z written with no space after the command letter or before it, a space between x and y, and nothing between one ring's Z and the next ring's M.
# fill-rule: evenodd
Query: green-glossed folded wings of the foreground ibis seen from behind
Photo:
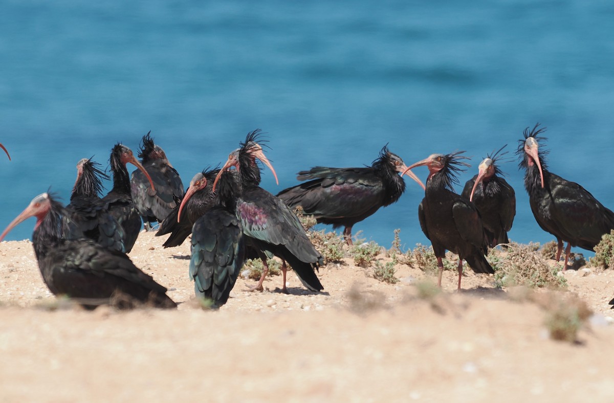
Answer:
M190 259L196 296L211 298L217 307L225 304L243 266L244 253L243 228L235 215L216 208L197 220Z

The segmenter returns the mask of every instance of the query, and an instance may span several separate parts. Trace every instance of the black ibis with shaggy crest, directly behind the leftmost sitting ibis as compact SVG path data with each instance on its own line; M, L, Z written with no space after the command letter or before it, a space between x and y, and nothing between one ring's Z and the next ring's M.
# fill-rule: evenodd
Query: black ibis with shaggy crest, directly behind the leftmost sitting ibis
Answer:
M91 158L83 158L77 163L71 202L62 216L63 235L66 239L93 239L104 247L125 251L122 226L109 213L108 205L100 202L103 178L109 177Z

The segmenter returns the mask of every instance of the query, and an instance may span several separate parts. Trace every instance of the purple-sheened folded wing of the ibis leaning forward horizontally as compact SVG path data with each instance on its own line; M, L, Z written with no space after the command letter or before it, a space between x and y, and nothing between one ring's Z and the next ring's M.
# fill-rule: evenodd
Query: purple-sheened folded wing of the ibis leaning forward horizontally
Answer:
M313 180L282 190L278 197L316 218L360 217L384 203L384 183L374 172L368 167L315 167L298 177Z

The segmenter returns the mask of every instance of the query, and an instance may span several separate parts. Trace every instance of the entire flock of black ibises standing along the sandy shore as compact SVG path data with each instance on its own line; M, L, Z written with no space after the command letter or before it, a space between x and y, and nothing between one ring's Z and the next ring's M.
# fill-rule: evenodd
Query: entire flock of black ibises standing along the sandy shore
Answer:
M516 153L535 220L558 241L557 261L567 242L565 269L572 246L593 250L602 235L614 229L614 213L582 186L548 171L546 152L540 148L544 131L538 124L525 129ZM480 163L461 194L454 185L459 184L459 172L469 167L464 152L435 153L406 166L384 146L369 167L312 167L298 172L301 183L274 196L260 187L258 161L277 180L262 144L260 131L250 132L221 169L209 166L198 172L185 193L179 174L150 133L141 140L141 161L130 148L116 144L109 158L109 193L101 195L109 176L100 164L81 159L70 204L64 207L53 193L36 196L2 232L0 241L21 221L36 217L33 246L45 284L53 294L69 296L88 309L100 304L177 306L166 288L126 255L141 228L158 223L156 236L169 235L164 247L181 245L191 235L189 274L195 294L210 299L214 307L227 302L246 259L261 259L264 267L251 290L263 290L267 259L273 256L282 261L283 291L288 266L305 288L324 290L316 274L322 255L295 208L302 207L318 223L343 227L343 237L352 245L352 226L402 196L403 175L424 189L418 219L437 258L438 286L446 250L459 256L460 290L463 261L476 273L492 274L488 248L509 242L516 199L498 165L505 160L505 146ZM0 147L10 159L4 145ZM138 168L131 177L128 163ZM429 170L426 185L411 171L419 166Z

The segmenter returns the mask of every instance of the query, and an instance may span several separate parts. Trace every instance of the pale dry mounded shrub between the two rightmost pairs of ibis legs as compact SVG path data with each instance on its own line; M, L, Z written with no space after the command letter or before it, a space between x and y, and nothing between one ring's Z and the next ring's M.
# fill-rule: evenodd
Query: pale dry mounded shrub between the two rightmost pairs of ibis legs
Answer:
M512 242L507 246L507 255L496 264L495 286L526 285L531 288L567 286L565 277L558 275L561 267L550 267L546 259L540 253L536 253L531 245Z

